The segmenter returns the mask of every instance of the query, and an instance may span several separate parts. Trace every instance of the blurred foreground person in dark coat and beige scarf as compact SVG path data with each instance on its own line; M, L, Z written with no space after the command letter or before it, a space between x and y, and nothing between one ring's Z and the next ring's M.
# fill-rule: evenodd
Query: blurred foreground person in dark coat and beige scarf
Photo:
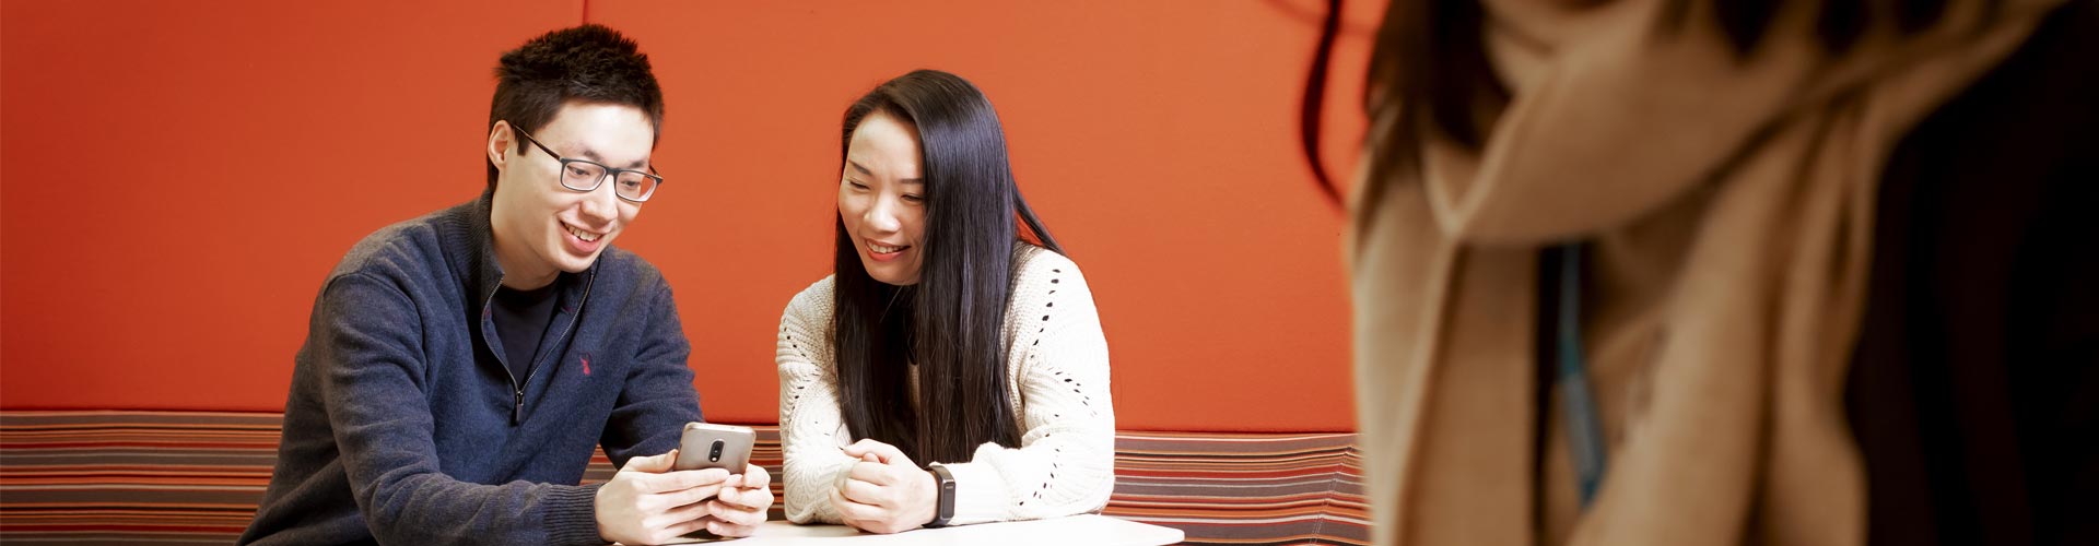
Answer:
M1377 544L2099 544L2093 2L1400 0Z

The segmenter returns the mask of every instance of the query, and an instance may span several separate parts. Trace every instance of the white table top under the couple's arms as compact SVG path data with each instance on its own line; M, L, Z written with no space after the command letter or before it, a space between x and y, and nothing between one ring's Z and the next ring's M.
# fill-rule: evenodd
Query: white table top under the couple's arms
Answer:
M787 521L766 521L758 533L739 540L709 544L722 546L772 546L772 544L1098 544L1098 546L1157 546L1175 544L1184 536L1173 527L1136 523L1102 514L1077 514L1037 521L1005 521L955 525L940 529L913 529L892 536L863 533L846 525L793 525Z

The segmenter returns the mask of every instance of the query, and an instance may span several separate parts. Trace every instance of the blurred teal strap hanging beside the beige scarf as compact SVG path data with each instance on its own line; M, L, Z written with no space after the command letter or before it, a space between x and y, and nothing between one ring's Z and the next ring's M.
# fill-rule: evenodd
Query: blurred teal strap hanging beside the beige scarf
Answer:
M1581 346L1581 244L1560 246L1560 317L1555 344L1560 349L1560 410L1568 420L1568 449L1574 452L1574 470L1581 479L1581 506L1589 508L1597 485L1604 483L1604 418L1595 410L1595 395L1589 388L1589 365Z

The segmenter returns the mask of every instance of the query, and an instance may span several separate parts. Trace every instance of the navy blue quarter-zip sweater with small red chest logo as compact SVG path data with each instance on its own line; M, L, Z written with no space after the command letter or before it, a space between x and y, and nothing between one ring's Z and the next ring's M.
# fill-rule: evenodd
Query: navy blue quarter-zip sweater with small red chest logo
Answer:
M241 544L602 544L594 447L670 452L701 420L663 275L607 248L523 378L489 317L489 195L359 242L327 275Z

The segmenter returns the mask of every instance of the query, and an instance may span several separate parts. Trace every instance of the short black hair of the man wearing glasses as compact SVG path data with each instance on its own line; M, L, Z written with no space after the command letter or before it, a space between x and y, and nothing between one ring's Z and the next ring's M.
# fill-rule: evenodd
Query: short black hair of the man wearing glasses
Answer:
M539 130L569 101L638 107L649 113L655 136L663 136L663 88L649 69L649 55L605 25L548 32L504 52L495 65L489 130L502 120ZM489 191L495 191L495 174L489 160Z

